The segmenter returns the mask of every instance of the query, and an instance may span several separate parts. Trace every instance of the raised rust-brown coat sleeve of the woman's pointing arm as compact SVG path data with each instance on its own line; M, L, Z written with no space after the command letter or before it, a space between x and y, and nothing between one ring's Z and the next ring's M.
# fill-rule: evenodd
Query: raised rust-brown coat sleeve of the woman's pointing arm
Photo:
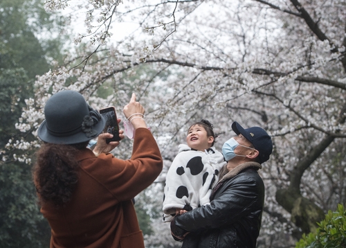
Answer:
M111 154L100 154L82 170L94 177L119 202L130 200L158 177L163 167L161 152L152 133L138 128L131 159L122 160Z

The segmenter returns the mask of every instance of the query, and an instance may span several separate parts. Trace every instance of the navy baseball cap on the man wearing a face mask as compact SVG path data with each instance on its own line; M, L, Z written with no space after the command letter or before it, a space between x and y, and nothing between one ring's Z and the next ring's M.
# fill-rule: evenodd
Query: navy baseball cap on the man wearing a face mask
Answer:
M237 135L242 134L260 152L260 163L264 163L269 159L271 152L273 152L273 142L271 141L271 136L263 128L249 127L244 129L235 121L232 123L232 129Z

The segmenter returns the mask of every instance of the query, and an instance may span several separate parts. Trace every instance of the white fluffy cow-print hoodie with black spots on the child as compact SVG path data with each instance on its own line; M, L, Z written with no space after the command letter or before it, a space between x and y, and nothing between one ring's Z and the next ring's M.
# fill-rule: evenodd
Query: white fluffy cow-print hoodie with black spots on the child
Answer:
M202 152L185 144L179 145L179 153L166 176L163 222L172 221L176 208L190 211L210 204L212 188L225 164L224 156L215 147Z

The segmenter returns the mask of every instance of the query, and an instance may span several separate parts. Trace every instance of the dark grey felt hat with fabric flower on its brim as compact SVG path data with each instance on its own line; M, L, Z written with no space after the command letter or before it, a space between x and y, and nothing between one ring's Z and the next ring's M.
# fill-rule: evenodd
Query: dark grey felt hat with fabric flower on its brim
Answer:
M56 144L74 144L89 141L104 128L104 118L86 103L77 91L60 91L47 100L46 120L39 126L42 141Z

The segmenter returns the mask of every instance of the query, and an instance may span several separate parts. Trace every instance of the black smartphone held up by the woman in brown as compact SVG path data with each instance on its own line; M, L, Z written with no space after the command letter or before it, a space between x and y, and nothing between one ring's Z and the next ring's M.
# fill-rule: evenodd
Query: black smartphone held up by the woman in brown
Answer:
M100 114L103 116L104 120L106 120L106 125L104 126L103 132L109 132L110 134L113 134L113 138L106 139L106 142L109 143L111 141L120 141L116 108L113 106L105 107L104 109L100 109Z

